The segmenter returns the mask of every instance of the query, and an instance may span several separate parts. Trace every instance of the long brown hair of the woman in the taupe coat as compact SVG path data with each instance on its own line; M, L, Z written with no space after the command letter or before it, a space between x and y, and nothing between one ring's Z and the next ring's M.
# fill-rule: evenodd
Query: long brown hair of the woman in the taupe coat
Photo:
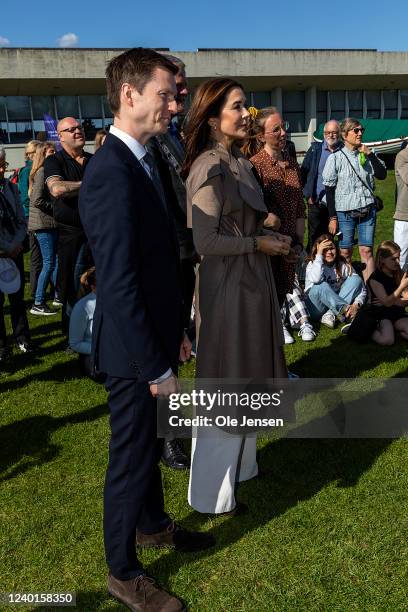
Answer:
M181 176L184 180L194 160L208 146L210 140L208 120L211 117L219 117L228 93L236 87L243 90L242 85L233 79L218 78L201 83L195 92L187 115L186 158L181 169Z

